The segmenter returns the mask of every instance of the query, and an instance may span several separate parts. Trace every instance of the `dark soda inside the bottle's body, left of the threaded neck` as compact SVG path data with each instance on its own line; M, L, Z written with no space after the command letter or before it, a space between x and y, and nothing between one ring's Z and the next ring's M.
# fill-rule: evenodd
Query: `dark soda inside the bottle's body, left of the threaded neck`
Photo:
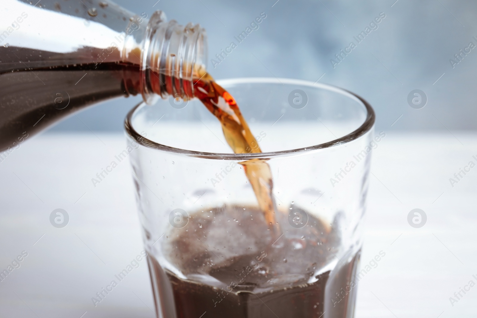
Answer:
M32 135L93 103L139 93L136 64L57 61L62 58L47 51L1 48L0 151L15 146L23 132Z

